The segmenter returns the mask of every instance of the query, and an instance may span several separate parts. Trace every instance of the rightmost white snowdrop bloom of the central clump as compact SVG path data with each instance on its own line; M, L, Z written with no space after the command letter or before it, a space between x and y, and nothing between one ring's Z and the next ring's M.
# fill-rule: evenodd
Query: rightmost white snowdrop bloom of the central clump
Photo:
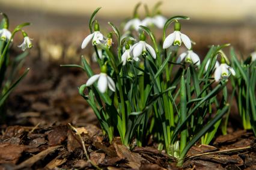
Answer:
M235 76L236 72L232 67L230 67L226 63L222 63L215 70L215 73L214 73L215 81L218 82L220 79L227 79L230 76L230 74Z

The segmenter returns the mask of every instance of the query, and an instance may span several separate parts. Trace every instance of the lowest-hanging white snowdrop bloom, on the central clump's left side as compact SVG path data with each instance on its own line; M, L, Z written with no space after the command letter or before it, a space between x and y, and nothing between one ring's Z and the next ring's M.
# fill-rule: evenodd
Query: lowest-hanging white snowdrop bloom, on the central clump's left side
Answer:
M114 80L112 80L111 77L106 74L106 65L103 65L101 73L100 74L95 74L90 77L90 79L87 80L86 85L90 86L93 85L94 82L98 80L97 83L97 88L99 89L100 93L105 93L108 88L111 91L115 92L115 83Z

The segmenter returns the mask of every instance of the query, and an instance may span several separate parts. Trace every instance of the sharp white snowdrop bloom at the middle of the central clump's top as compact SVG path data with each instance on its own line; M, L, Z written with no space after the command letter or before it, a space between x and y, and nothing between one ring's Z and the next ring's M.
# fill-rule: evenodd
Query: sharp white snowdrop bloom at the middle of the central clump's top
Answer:
M145 55L145 53L150 52L150 55L156 59L156 52L154 51L153 47L150 46L150 44L147 44L145 42L145 35L144 33L139 34L139 42L134 44L130 50L134 58L138 58L140 55Z

